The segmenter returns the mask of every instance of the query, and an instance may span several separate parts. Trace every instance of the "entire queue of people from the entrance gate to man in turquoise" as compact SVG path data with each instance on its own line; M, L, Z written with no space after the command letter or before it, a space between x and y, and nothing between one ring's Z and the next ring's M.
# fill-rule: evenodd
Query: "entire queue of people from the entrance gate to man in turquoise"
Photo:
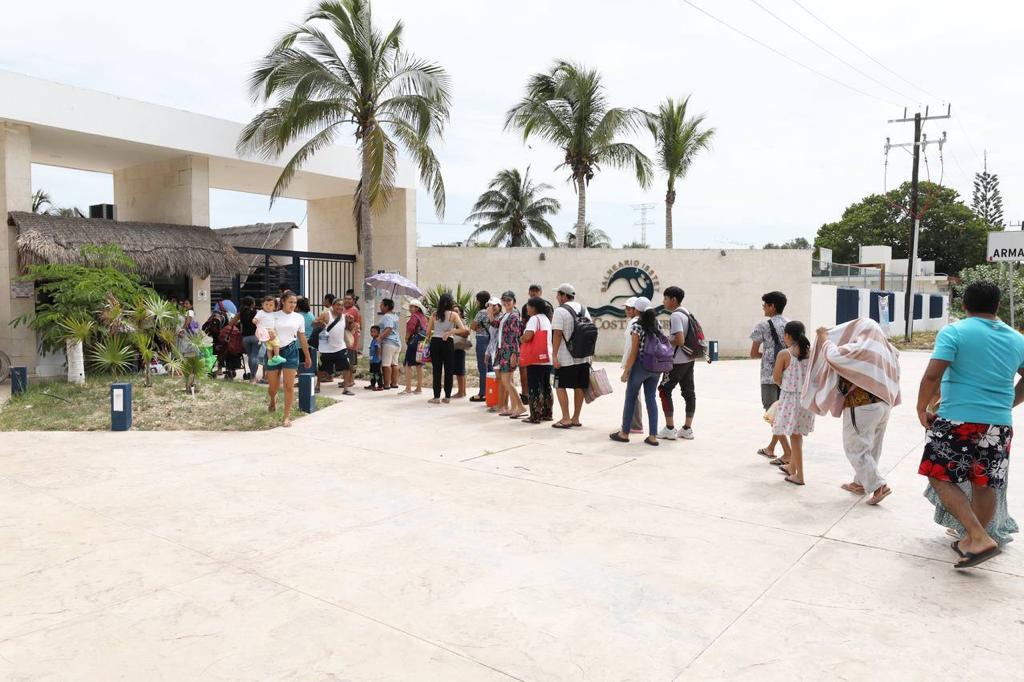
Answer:
M498 399L489 412L527 424L552 422L558 429L583 426L596 327L575 300L572 285L557 288L555 304L545 299L540 285L531 285L528 292L521 308L512 291L497 297L478 292L478 311L468 322L451 294L441 295L433 310L412 299L404 334L394 301L383 299L378 323L370 328L371 380L366 388L400 389L403 368L406 386L399 394L422 393L423 368L429 363L431 404L466 397L466 353L475 343L479 389L470 401L486 402L487 377L494 373ZM626 390L622 423L609 434L612 440L629 442L631 434L644 433L644 443L656 446L663 440L693 438L693 368L701 352L693 347L690 326L695 323L682 307L684 296L679 287L664 291L668 333L651 300L641 296L625 303L629 324L620 379ZM995 556L1018 529L1007 511L1006 484L1012 409L1024 401L1024 337L997 317L998 287L972 284L963 303L967 316L936 338L916 406L927 431L920 467L929 479L925 495L936 507L935 520L954 537L951 549L959 557L957 568ZM784 316L785 306L782 292L762 296L764 319L750 336L751 357L761 360L761 401L771 424L768 444L757 452L779 468L785 481L803 485L804 439L812 433L815 418L841 417L843 447L853 469L853 479L841 487L878 505L893 492L880 470L880 459L890 413L901 401L899 352L869 318L820 328L812 344L805 325ZM257 368L263 367L269 411L276 410L278 393L284 388L285 426L291 424L299 364L311 367L310 345L318 350L318 378L339 377L344 394L352 394L361 333L356 299L351 291L340 299L329 294L324 307L314 316L307 300L285 291L279 297L265 297L258 309L252 298L243 299L238 310L230 301L219 302L215 309L226 326L241 328L249 368L244 378L256 382ZM183 324L193 324L190 319L186 314ZM227 372L240 369L232 358L218 357ZM1021 380L1015 385L1017 375ZM456 384L458 392L453 392ZM677 386L685 404L684 422L678 428L673 403ZM660 428L659 414L665 417Z

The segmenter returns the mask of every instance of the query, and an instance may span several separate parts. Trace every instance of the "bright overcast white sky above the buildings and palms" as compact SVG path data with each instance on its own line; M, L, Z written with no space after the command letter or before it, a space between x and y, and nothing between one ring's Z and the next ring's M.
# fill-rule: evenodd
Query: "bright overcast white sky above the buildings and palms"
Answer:
M930 138L946 131L948 141L941 160L937 146L928 148L922 178L941 177L970 203L987 150L1007 220L1024 218L1024 168L1015 163L1024 158L1017 125L1024 112L1018 31L1024 6L1002 0L691 2L763 45L687 0L377 0L375 20L390 26L400 18L407 48L442 65L454 83L451 122L437 145L447 211L436 216L426 193L418 193L420 244L464 239L477 196L498 171L512 167L528 166L536 179L553 185L562 211L552 223L560 237L572 227L575 195L565 171L556 170L562 155L503 129L527 78L555 58L598 70L612 105L652 110L667 96L689 94L692 110L716 128L713 148L677 185L677 248L813 240L849 205L909 179L910 157L900 150L890 152L884 178L886 137L912 139L912 124L887 123L901 118L904 106L912 113L929 105L935 114L952 105L951 119L926 124ZM51 0L46 6L43 17L32 3L5 3L0 69L247 121L255 113L245 89L254 61L310 3ZM649 134L632 141L653 153ZM101 174L37 166L33 182L60 205L112 201L110 177ZM633 206L654 204L648 242L664 246L665 182L658 174L643 189L627 172L601 169L588 190L588 219L618 246L639 239ZM268 211L264 197L211 195L215 226L301 222L304 212L299 201L283 200Z

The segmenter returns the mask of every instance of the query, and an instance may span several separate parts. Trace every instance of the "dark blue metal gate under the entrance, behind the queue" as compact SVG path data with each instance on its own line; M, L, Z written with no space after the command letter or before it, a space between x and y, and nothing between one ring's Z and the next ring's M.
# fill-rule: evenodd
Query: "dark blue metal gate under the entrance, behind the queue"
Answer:
M289 251L234 247L249 263L249 271L236 274L230 282L232 300L252 296L276 296L284 285L299 296L309 299L309 305L319 311L325 294L341 296L355 286L355 256L344 253ZM215 292L225 289L226 282L211 282Z

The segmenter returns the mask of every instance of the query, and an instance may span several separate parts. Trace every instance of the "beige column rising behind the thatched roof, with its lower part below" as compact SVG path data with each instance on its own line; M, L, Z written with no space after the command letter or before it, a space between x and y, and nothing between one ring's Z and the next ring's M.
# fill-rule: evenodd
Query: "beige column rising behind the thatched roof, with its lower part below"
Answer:
M210 160L177 157L114 171L119 220L210 224ZM210 279L190 278L189 296L200 324L210 316Z

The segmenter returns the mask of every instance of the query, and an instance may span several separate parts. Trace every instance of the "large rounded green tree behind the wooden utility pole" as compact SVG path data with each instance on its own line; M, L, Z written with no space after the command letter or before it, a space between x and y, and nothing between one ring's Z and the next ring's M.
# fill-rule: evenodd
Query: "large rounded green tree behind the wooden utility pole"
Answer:
M922 182L920 206L921 237L918 255L934 260L939 272L956 274L965 267L985 262L988 223L961 201L955 189L932 182ZM833 250L837 263L857 262L858 247L891 246L894 258L909 253L910 183L885 195L871 195L848 207L837 222L821 225L814 239L815 247Z

